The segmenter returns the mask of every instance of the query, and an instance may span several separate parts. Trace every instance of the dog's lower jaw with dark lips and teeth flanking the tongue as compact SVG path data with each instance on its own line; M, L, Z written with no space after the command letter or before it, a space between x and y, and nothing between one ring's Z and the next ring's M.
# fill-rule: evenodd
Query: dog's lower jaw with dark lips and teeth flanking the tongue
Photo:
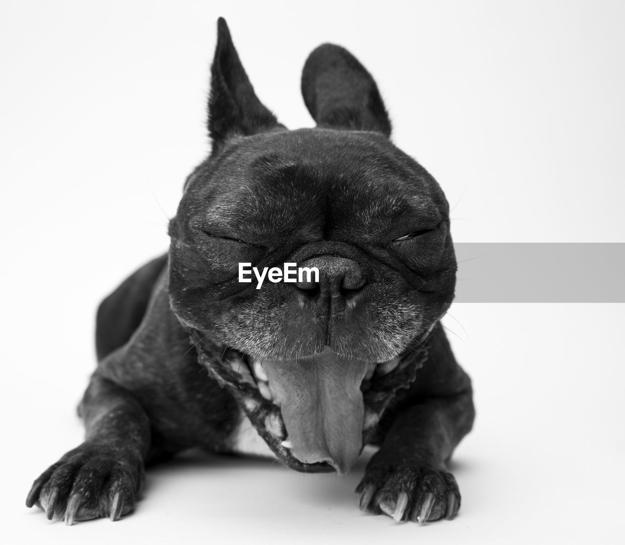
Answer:
M397 390L409 387L416 378L417 369L427 359L434 326L436 322L400 356L387 362L370 364L360 388L364 402L362 446L376 435L377 423ZM262 360L211 341L197 329L185 327L191 343L196 347L199 363L239 402L259 436L278 459L296 471L328 472L336 469L327 462L304 463L292 454L281 407L275 402Z

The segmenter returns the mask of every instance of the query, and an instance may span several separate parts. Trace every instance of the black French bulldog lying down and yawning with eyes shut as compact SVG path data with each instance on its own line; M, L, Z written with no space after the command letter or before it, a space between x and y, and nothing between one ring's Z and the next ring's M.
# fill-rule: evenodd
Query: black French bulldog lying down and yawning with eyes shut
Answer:
M446 462L474 409L439 323L456 281L447 201L389 141L376 84L345 49L311 53L301 88L317 127L289 131L217 29L211 154L186 180L169 253L99 306L86 439L26 504L68 524L116 520L144 467L189 447L344 473L372 444L363 511L452 519ZM242 262L319 277L256 289Z

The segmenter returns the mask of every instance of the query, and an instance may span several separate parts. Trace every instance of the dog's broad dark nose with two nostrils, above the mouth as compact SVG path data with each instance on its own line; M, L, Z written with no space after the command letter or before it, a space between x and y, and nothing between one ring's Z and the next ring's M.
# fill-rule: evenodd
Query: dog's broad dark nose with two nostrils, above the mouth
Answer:
M353 259L334 256L318 256L308 259L300 267L316 267L319 281L296 282L295 286L307 299L325 299L342 297L349 301L367 284L367 277L362 268Z

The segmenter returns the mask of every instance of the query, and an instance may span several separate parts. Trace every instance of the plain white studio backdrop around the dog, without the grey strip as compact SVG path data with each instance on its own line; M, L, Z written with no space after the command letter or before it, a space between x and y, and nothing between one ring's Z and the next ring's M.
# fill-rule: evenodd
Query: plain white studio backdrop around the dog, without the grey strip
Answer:
M312 126L299 76L324 41L377 79L394 142L437 178L455 241L624 242L625 4L618 1L2 1L1 532L8 543L622 542L617 304L456 304L474 380L463 505L418 527L366 516L347 477L187 457L133 516L65 527L24 506L82 438L93 317L168 246L207 153L217 16L262 101ZM589 279L591 282L592 279ZM620 536L619 536L620 534ZM384 541L381 541L384 540Z

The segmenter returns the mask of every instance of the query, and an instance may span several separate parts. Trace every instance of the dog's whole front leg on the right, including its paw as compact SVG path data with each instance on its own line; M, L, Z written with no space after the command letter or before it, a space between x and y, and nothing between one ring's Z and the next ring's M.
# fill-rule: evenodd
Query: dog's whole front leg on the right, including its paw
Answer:
M471 381L440 328L430 357L409 395L385 422L381 448L356 489L363 511L414 522L452 519L460 507L446 462L470 430L475 411Z

